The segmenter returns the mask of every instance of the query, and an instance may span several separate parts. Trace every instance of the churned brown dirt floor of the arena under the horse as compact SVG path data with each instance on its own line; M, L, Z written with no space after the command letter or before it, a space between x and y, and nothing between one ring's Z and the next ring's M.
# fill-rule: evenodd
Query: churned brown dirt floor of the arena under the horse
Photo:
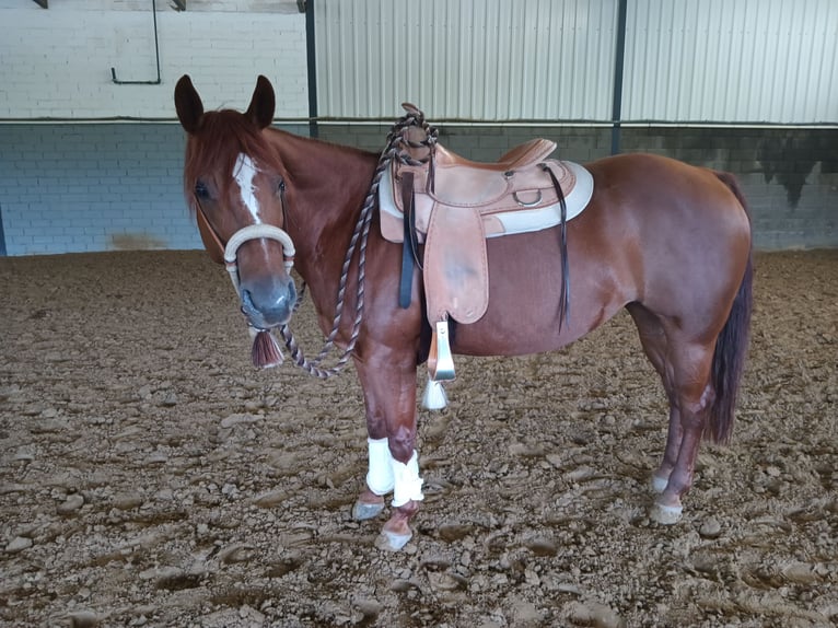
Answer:
M255 371L203 253L0 258L0 623L835 626L838 251L756 268L733 442L702 447L679 524L647 516L666 410L619 315L457 359L391 554L350 519L354 374ZM310 306L293 328L319 350Z

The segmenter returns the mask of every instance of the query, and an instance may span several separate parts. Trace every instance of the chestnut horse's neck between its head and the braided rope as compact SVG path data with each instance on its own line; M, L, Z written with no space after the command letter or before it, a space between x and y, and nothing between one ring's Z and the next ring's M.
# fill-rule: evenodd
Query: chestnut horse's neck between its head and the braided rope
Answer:
M277 136L277 147L288 168L287 230L296 247L294 265L317 309L333 316L376 155L288 133Z

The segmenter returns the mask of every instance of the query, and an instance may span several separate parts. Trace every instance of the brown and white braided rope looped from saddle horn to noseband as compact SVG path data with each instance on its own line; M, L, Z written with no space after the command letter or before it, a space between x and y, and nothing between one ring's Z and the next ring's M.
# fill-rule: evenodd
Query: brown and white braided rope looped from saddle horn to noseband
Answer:
M407 129L415 126L421 126L426 131L427 138L421 142L415 142L407 138ZM375 167L372 183L370 184L370 190L366 193L366 197L364 198L361 212L358 217L358 222L356 223L354 231L352 232L352 239L349 242L349 247L347 248L347 254L344 258L344 266L341 268L340 281L338 284L338 302L335 311L335 318L331 324L331 332L327 336L323 349L321 349L321 352L317 354L317 357L314 360L307 360L303 353L303 350L300 348L300 345L296 342L291 328L288 325L282 325L279 328L279 334L282 337L282 340L286 342L286 347L290 351L291 359L293 360L294 364L306 371L310 375L323 380L331 377L333 375L337 375L346 367L347 362L349 361L349 357L351 356L358 342L358 337L360 336L361 332L361 322L363 319L365 292L364 284L366 278L366 242L370 235L370 225L372 224L372 210L375 207L375 200L379 194L379 186L381 184L382 176L384 176L384 173L394 159L398 160L403 164L415 166L428 163L432 159L433 147L437 143L437 137L438 131L435 127L429 125L424 120L424 115L422 115L422 113L418 109L408 109L407 115L399 118L396 124L393 125L393 128L387 135L387 144L379 158L379 163ZM428 156L417 160L407 153L407 151L404 149L405 146L408 148L429 148L431 150ZM360 249L358 258L358 291L356 293L356 317L352 322L352 333L349 337L349 344L347 345L347 348L344 350L340 358L338 358L336 364L329 369L322 369L319 364L331 351L331 348L335 345L335 338L337 337L338 330L340 328L340 323L344 316L344 302L346 296L347 280L349 277L349 266L352 261L356 247L359 245L359 243Z

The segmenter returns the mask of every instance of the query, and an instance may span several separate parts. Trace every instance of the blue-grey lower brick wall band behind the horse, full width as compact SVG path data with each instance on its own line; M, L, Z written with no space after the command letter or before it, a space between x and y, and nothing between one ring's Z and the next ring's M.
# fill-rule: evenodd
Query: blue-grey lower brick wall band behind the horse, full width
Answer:
M319 136L379 151L387 130L321 125ZM610 152L608 128L440 128L445 146L475 160L496 160L533 137L556 140L571 161ZM176 124L0 125L7 254L200 248L182 194L183 141ZM736 174L757 248L838 246L836 130L625 128L621 146Z

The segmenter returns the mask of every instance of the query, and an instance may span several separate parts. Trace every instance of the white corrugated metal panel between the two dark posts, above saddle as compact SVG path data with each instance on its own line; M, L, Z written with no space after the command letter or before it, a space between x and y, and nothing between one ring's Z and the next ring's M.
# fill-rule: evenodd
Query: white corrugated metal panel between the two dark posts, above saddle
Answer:
M617 0L321 0L318 113L607 119Z

